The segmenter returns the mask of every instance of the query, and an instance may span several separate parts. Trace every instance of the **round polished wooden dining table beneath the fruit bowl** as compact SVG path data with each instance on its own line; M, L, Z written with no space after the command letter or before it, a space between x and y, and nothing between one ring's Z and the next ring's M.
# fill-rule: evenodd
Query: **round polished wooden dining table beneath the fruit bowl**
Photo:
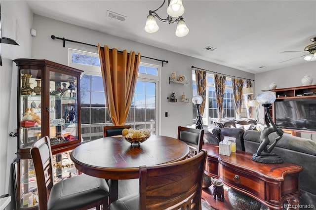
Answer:
M118 199L118 179L138 178L140 166L183 160L189 151L185 142L171 137L152 135L139 146L124 137L105 137L79 145L71 159L80 172L109 179L113 202Z

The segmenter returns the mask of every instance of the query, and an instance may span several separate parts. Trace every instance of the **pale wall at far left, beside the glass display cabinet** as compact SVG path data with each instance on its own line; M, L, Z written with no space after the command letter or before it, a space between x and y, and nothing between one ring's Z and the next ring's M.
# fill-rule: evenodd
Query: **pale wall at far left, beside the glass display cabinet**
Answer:
M12 60L20 57L31 57L32 40L30 29L32 27L33 13L25 1L1 0L0 4L1 16L11 15L18 20L17 42L19 46L1 44L2 67L0 67L0 194L10 193L13 196L9 189L12 177L10 164L16 158L17 139L9 137L9 133L17 127L16 83L18 77L17 68ZM8 209L13 208L8 207Z

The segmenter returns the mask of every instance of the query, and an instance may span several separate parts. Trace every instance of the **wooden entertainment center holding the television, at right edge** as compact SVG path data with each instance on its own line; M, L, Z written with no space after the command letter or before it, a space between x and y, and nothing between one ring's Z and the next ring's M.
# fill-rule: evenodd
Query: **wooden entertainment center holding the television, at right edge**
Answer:
M316 133L316 85L273 89L276 101L270 114L277 127L296 132Z

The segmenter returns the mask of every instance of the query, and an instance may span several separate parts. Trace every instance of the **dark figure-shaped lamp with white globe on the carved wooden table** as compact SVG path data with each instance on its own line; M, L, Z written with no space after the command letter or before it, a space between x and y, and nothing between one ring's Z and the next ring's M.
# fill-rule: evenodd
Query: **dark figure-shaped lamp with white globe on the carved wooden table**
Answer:
M253 154L251 159L260 163L282 163L283 160L280 156L274 153L271 154L277 141L280 140L283 135L282 129L277 128L276 124L273 122L269 110L269 107L276 101L276 94L272 91L265 91L257 96L257 101L265 107L265 123L267 127L261 132L260 145L257 153ZM275 141L269 145L270 140L268 136L274 132L276 132L278 137L276 137Z

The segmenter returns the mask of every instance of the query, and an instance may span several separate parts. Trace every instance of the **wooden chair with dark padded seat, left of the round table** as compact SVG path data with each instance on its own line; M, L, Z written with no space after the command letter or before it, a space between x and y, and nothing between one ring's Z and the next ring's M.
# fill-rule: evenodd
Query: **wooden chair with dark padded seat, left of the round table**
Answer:
M78 175L54 182L52 153L46 136L33 143L31 156L39 192L40 210L108 209L109 186L105 179Z

